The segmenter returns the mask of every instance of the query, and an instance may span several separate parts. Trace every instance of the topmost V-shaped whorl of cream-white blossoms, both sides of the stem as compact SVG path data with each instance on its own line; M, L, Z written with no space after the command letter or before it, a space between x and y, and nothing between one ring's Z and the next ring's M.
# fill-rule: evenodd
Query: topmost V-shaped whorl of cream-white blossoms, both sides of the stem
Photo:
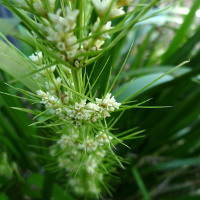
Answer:
M75 68L81 67L81 61L87 59L87 56L85 56L87 52L98 51L105 43L105 40L110 38L109 30L112 27L109 20L123 15L125 13L123 6L132 2L132 0L92 0L98 18L91 31L88 31L88 34L84 36L89 36L90 38L82 38L83 41L78 42L75 34L79 15L78 9L72 10L66 7L63 13L60 8L55 10L55 0L49 0L51 12L47 12L42 0L15 1L21 8L31 11L30 8L33 7L40 16L43 16L43 20L37 21L37 24L40 27L39 32L52 44L49 49L52 50L52 47L54 47L54 50L57 51L57 56L64 61L70 61ZM105 24L101 24L100 22L109 8L108 19ZM33 34L37 39L36 33L33 32ZM32 58L34 59L34 57Z

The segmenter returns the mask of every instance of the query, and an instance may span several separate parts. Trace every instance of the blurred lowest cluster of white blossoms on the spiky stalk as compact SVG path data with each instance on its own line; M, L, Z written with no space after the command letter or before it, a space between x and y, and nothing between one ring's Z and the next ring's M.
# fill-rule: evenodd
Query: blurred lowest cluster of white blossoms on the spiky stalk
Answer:
M71 128L68 132L68 135L63 134L54 145L51 155L55 156L56 151L58 152L58 166L68 173L79 171L77 176L71 177L69 181L69 186L76 193L99 193L99 182L104 178L101 167L113 137L104 130L96 135L88 135L86 139L83 139L78 129ZM84 176L81 176L82 174Z

